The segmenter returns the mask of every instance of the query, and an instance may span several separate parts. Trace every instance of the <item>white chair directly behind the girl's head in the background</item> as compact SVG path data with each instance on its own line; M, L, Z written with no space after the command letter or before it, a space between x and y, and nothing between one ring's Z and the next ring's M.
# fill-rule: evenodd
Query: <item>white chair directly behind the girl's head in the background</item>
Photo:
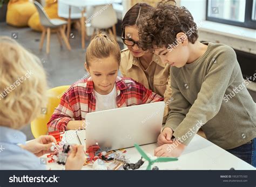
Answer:
M92 13L91 26L93 27L93 35L99 30L107 30L116 39L117 13L113 9L113 5L98 5ZM110 29L112 27L112 30Z

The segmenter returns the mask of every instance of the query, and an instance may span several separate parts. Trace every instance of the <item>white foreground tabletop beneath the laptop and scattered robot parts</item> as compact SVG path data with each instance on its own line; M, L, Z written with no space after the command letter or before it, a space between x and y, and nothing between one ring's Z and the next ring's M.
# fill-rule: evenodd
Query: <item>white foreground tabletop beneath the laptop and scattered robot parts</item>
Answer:
M76 130L66 131L63 136L63 140L65 139L69 143L80 144ZM141 147L146 153L153 155L157 144L152 143ZM131 163L136 163L140 159L140 154L136 148L128 148L126 151L123 155L129 158ZM199 135L194 136L178 161L155 163L154 165L157 165L160 170L229 170L230 168L234 168L235 170L256 170L252 165L242 161L240 158L228 153L226 150ZM145 162L139 169L145 170L146 167L147 163ZM48 163L47 168L59 170L64 167L56 163ZM91 169L90 167L83 167L83 170Z

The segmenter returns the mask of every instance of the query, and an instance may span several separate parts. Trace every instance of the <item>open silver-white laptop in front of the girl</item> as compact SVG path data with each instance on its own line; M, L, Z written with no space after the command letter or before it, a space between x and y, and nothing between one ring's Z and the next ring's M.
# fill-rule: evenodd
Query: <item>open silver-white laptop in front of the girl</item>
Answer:
M165 103L153 102L124 108L88 113L86 130L77 131L86 149L98 144L100 148L117 150L155 143L160 134Z

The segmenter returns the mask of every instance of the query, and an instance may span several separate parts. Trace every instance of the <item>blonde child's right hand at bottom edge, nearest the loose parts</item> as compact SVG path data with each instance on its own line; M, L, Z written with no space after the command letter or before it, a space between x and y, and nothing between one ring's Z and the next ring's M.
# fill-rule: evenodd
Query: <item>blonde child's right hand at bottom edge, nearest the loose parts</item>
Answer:
M80 170L85 161L85 154L83 146L72 146L72 152L66 160L66 170Z

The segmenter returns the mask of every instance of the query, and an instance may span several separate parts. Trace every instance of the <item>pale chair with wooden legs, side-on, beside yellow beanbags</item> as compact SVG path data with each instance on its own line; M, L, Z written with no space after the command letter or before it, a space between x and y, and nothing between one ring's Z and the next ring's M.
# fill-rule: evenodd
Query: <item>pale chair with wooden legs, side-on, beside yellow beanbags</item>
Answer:
M69 45L69 41L65 36L64 30L63 30L63 25L68 24L68 22L66 22L65 20L62 19L50 19L44 9L43 6L41 4L39 4L38 2L34 2L37 11L39 13L39 18L40 18L40 22L41 25L43 26L43 31L42 31L42 36L41 36L41 41L39 44L39 49L42 50L43 45L44 45L44 37L45 37L45 33L47 31L47 39L46 39L46 53L50 52L50 34L51 34L51 29L57 29L57 36L58 36L58 40L60 43L60 46L62 46L62 40L61 38L63 38L64 43L66 44L66 47L68 48L68 50L71 50L71 47Z

